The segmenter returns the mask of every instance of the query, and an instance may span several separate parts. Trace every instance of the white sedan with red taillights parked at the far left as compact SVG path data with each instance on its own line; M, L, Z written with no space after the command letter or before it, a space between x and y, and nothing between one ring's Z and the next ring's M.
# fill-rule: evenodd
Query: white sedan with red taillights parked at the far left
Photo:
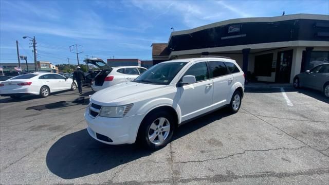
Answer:
M0 95L18 99L23 95L47 97L61 90L76 90L77 84L56 73L30 73L0 83Z

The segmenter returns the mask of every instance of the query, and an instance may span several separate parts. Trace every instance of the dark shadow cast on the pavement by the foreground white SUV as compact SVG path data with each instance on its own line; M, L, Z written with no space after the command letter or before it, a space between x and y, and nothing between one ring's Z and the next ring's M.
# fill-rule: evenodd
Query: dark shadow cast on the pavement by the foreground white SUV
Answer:
M173 140L229 116L227 111L216 111L180 126ZM139 144L107 145L90 137L86 129L63 136L49 149L46 156L48 169L63 179L74 179L111 170L119 165L149 156L153 151Z

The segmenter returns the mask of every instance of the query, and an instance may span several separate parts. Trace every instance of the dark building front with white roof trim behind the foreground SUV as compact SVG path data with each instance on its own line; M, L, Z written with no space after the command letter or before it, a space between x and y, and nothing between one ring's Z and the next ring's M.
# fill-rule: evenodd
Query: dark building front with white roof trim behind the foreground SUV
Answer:
M153 60L223 55L236 60L249 78L292 83L297 73L328 62L329 16L237 18L175 31L163 52L168 54L153 53Z

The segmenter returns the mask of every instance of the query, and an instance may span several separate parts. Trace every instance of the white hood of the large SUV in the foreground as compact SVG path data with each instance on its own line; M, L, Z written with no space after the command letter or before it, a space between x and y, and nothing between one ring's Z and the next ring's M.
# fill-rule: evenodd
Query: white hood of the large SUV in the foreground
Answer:
M134 103L135 100L154 94L164 85L126 82L97 91L90 97L90 101L103 106L117 106Z

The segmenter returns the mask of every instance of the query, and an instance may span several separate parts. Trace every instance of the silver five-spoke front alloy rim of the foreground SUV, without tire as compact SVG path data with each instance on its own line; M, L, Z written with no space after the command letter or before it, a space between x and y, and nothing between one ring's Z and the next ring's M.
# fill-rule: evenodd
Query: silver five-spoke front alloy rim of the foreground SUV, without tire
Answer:
M149 128L149 140L153 144L160 145L168 138L170 133L170 122L166 118L154 120Z

